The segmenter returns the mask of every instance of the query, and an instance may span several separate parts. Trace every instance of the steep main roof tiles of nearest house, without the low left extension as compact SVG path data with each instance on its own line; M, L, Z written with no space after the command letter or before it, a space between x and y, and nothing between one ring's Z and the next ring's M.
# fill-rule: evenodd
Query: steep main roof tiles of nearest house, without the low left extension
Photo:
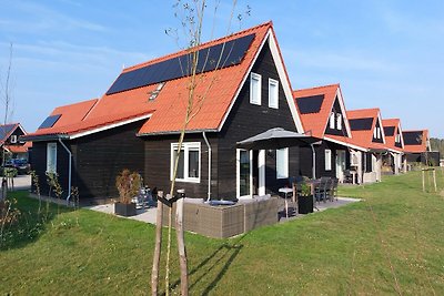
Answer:
M241 88L245 73L252 65L258 50L260 49L270 29L272 29L272 23L266 22L242 32L204 43L201 47L212 47L222 42L255 33L255 37L241 63L196 75L199 83L194 91L194 100L199 101L200 98L204 98L204 100L201 104L196 103L194 105L194 110L199 110L199 112L196 112L196 115L188 124L188 131L219 130L231 108L233 100L236 96L238 90ZM167 55L164 58L131 68L131 70L144 67L152 62L171 59L172 57L181 55L184 52L182 51ZM175 132L182 129L186 111L189 83L190 78L180 78L165 83L158 98L152 102L149 102L155 112L141 127L139 134ZM112 98L123 98L125 95L130 95L132 100L147 101L149 96L147 95L147 92L150 91L151 88L153 86L111 94L109 95L109 99L112 100Z

